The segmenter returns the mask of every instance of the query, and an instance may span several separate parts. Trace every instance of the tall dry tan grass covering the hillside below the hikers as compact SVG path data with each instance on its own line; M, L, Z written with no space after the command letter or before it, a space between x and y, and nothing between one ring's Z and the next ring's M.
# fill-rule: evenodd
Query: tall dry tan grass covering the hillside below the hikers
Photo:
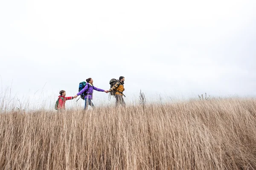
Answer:
M1 169L256 169L256 99L0 114Z

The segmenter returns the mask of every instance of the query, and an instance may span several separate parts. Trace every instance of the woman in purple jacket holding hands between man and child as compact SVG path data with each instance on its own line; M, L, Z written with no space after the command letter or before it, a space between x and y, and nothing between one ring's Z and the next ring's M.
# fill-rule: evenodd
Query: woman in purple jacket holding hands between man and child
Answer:
M96 88L93 86L93 79L92 78L88 78L86 79L86 85L84 86L83 90L79 91L78 94L76 94L74 96L74 98L77 98L77 96L79 96L80 94L84 93L84 91L87 91L87 95L84 96L84 109L87 109L88 108L88 104L91 106L91 107L94 107L93 105L93 90L96 90L96 91L105 91L105 90L102 90L100 88ZM88 89L88 90L87 90ZM105 93L108 93L108 91L105 91Z

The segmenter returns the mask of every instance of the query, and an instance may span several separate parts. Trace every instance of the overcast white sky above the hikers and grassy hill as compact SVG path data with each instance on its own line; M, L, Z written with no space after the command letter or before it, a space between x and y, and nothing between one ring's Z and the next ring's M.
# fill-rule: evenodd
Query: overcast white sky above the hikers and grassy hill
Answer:
M108 89L122 75L130 98L256 96L255 9L256 0L2 0L2 91L74 96L88 77Z

